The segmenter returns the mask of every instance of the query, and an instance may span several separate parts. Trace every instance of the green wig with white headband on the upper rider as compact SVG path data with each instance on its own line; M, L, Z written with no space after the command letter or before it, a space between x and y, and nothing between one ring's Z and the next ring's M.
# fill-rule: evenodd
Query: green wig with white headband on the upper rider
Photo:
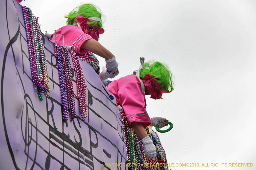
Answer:
M78 8L77 11L76 8ZM99 28L102 27L102 19L101 19L101 11L100 9L93 5L93 4L83 4L81 6L76 7L74 10L72 10L71 12L69 12L68 15L65 16L65 18L68 18L67 20L67 24L68 25L73 25L74 23L76 23L76 16L77 15L81 15L85 18L89 18L89 17L98 17L100 18L100 21L92 21L90 23L88 23L88 26L95 26L96 24L98 24ZM103 18L105 18L102 15Z

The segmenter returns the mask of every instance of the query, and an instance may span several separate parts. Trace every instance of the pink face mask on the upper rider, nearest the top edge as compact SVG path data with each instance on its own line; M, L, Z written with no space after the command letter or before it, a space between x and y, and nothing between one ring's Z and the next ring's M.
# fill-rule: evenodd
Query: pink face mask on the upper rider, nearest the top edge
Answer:
M98 26L88 26L88 22L91 22L88 18L85 18L83 16L77 15L77 25L78 27L84 31L84 33L87 33L88 35L91 35L91 37L98 41L100 38L99 34L104 33L104 29L100 28Z

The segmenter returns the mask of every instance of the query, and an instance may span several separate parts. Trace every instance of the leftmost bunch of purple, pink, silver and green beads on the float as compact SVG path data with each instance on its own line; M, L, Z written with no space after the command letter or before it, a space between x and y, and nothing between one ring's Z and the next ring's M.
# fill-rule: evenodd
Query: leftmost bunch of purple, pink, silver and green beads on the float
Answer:
M46 97L50 95L50 85L41 30L32 11L26 6L22 6L22 9L28 42L31 77L39 100L43 101L43 93Z

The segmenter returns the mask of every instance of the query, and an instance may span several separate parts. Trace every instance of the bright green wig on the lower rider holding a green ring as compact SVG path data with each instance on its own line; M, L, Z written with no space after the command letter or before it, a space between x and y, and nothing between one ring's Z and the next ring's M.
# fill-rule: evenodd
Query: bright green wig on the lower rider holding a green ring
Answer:
M150 67L150 62L144 63L144 68L140 71L140 79L143 81L143 78L146 74L151 74L156 77L156 82L164 89L164 91L172 92L174 89L174 83L172 81L172 72L164 64L160 62L154 62ZM149 68L149 69L148 69Z

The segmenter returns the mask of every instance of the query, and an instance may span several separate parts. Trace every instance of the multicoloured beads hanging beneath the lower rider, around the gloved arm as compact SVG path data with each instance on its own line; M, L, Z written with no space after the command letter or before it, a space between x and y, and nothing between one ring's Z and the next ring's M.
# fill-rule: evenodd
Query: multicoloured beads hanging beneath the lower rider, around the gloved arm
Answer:
M121 105L118 105L121 106ZM121 106L122 107L122 106ZM141 139L134 134L133 129L130 128L125 116L124 110L120 113L122 115L122 121L124 126L124 137L126 145L126 153L128 164L130 165L143 165L143 166L130 166L130 170L168 170L168 166L158 166L159 163L166 163L166 155L164 148L161 145L160 139L155 131L146 128L146 132L150 139L156 146L156 159L151 160L145 157L144 145ZM155 165L155 166L147 166Z

